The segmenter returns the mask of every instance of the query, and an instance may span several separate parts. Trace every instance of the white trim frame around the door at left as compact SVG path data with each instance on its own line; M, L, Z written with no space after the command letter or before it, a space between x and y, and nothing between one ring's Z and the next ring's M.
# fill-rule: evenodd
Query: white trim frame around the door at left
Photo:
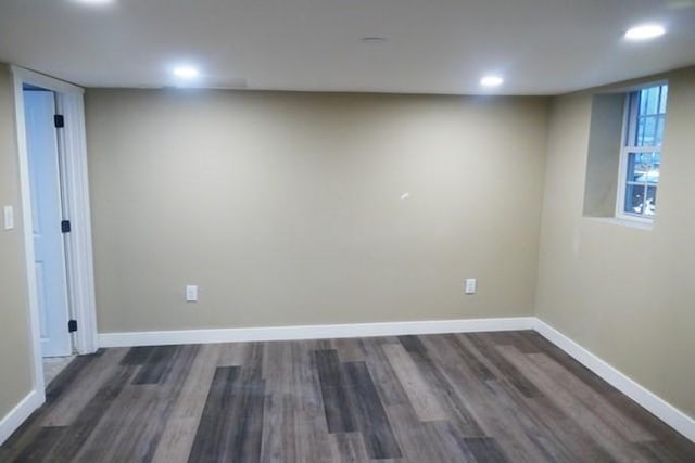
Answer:
M91 244L91 218L89 207L89 182L87 172L87 143L85 134L85 90L72 83L11 66L14 81L14 105L22 195L22 220L26 271L28 282L29 327L34 357L34 389L45 398L43 362L39 326L39 307L34 271L34 240L31 231L31 192L29 188L29 163L24 119L24 83L55 92L56 112L63 114L65 127L58 138L61 156L63 216L71 220L72 230L65 235L65 261L67 274L67 300L70 313L77 321L78 330L73 342L77 353L92 353L99 345L97 338L97 304L94 297L94 271ZM67 330L67 326L65 326ZM43 400L41 400L43 401Z

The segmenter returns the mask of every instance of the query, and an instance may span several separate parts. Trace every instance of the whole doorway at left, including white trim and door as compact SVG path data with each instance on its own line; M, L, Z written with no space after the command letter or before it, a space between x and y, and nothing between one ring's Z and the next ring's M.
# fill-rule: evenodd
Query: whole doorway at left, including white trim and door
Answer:
M12 67L33 338L33 384L45 388L97 345L84 90Z

